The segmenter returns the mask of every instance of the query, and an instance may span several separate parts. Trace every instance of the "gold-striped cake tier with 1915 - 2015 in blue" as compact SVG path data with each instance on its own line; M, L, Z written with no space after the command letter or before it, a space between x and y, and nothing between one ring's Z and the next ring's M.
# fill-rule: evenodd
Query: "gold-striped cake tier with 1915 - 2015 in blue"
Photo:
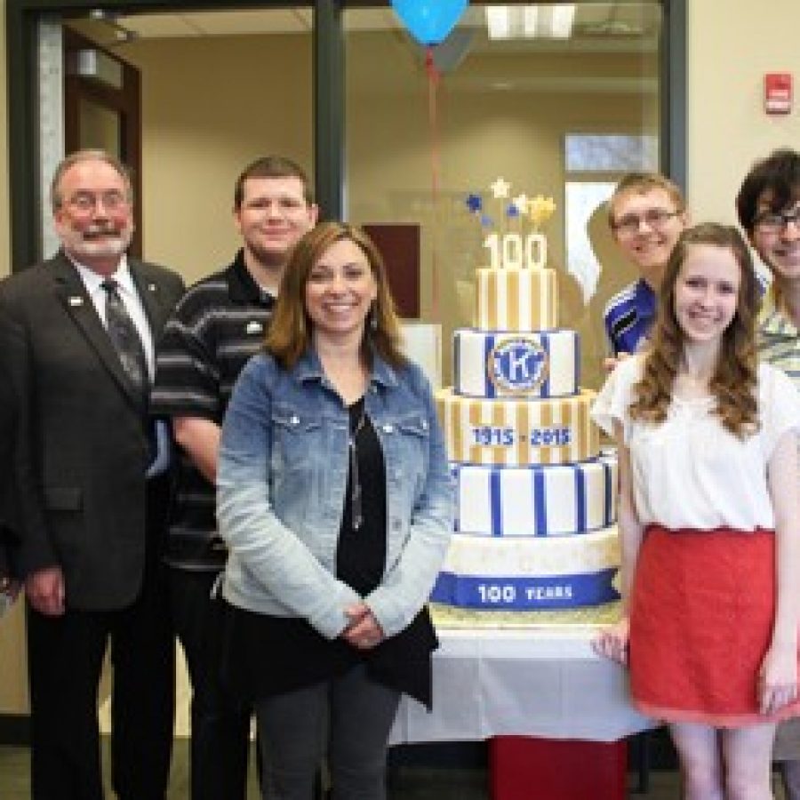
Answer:
M566 464L600 452L589 409L596 393L570 397L484 400L436 392L436 409L452 461L468 464Z

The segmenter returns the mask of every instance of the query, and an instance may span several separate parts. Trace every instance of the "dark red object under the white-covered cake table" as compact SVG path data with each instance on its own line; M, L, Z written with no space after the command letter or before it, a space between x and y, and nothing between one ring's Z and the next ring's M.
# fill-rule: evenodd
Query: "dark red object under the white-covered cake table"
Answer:
M495 736L489 741L492 800L624 800L625 741Z

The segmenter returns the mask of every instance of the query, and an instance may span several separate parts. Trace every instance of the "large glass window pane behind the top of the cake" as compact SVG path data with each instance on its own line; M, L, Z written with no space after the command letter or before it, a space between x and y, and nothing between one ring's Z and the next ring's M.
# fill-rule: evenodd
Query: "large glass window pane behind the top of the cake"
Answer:
M569 36L554 38L548 31L561 6L536 6L534 37L492 39L487 6L470 4L434 51L436 81L393 12L345 12L348 218L418 231L417 251L399 247L389 267L404 280L419 262L418 316L443 324L445 382L452 331L472 324L475 268L490 256L484 238L531 229L524 216L508 216L509 200L523 194L556 202L543 232L548 266L559 272L561 323L581 334L582 383L602 378L602 307L632 276L607 226L600 226L605 254L594 261L581 228L604 222L590 210L600 183L632 166L658 167L661 7L576 4ZM511 28L524 33L532 12L526 23L523 6L513 10L523 13ZM568 190L585 172L592 184ZM508 198L492 191L500 177L510 184ZM471 194L480 212L469 211Z

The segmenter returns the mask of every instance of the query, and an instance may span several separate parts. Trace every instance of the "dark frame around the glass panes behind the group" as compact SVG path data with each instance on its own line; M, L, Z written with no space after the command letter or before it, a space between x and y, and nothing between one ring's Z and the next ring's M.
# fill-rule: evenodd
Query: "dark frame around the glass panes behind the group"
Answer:
M583 0L592 2L592 0ZM661 169L685 188L686 147L686 0L660 0L661 27ZM314 171L316 198L325 217L340 219L344 210L344 35L342 8L387 5L388 0L236 0L235 7L313 7ZM230 10L224 0L104 0L114 12ZM12 269L39 257L36 220L42 198L36 147L36 28L45 16L66 17L91 11L97 0L6 0L11 191Z

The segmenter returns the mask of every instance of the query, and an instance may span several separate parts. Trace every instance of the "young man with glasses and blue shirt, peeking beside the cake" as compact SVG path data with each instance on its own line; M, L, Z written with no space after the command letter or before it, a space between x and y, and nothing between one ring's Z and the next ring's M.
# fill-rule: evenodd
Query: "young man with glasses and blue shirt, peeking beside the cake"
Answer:
M609 200L609 226L639 278L605 307L604 325L613 358L643 347L656 311L656 292L669 254L688 223L684 197L676 184L650 172L629 172Z

